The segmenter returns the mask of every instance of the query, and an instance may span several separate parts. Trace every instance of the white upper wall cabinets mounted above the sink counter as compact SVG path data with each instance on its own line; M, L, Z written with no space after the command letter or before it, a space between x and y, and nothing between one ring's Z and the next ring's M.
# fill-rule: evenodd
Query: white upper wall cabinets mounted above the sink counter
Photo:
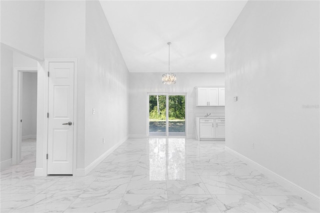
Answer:
M224 106L224 88L196 88L196 106Z

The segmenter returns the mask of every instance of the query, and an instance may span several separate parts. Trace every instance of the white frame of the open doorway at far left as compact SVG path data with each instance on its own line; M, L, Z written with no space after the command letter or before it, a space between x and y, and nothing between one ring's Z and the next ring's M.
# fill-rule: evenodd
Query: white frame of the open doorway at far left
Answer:
M22 73L36 72L37 67L14 67L12 72L12 162L21 162ZM37 94L36 94L37 95Z

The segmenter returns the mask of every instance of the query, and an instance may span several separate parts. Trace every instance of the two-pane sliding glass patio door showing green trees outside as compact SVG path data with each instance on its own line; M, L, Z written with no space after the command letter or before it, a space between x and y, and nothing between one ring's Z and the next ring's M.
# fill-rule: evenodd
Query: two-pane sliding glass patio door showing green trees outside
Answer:
M148 136L185 136L186 94L148 94Z

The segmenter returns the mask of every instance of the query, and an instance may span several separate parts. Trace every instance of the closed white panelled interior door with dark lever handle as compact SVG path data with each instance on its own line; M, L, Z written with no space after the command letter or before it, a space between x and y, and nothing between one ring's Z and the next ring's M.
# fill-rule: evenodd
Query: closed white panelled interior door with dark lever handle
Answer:
M72 174L73 62L49 62L47 174Z

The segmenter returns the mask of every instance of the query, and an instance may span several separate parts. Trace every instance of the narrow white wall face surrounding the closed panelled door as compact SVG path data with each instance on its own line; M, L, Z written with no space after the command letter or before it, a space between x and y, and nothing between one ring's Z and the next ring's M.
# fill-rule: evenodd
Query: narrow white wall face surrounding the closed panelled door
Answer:
M45 1L44 7L44 57L77 58L77 140L76 168L84 168L84 107L85 107L85 1ZM38 107L45 107L46 74L44 63L38 71L38 88L40 96ZM43 82L42 82L43 81ZM44 112L46 113L46 112ZM38 112L38 123L45 122L46 117ZM38 131L42 131L39 126ZM37 159L45 156L43 144L37 144ZM43 161L37 160L36 167L43 168Z

